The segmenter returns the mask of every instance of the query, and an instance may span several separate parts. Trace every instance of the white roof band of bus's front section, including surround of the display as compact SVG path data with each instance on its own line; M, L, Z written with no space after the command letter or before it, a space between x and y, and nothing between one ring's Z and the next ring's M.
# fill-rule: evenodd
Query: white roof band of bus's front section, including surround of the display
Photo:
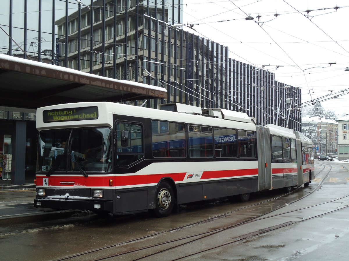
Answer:
M71 112L72 109L76 109L76 113L83 110L81 108L98 108L98 117L96 118L87 118L74 116L73 119L69 117L61 118L56 117L55 119L47 120L47 113L51 115L57 114L57 116L67 116L67 113ZM80 109L77 109L80 108ZM195 107L197 108L197 107ZM200 109L200 108L199 108ZM200 109L201 110L201 109ZM197 111L198 112L198 111ZM43 116L45 114L45 116ZM239 114L235 116L229 116L227 118L233 118L234 120L224 119L222 116L207 116L206 114L192 114L192 113L180 113L172 112L166 110L157 110L144 108L133 105L125 105L121 103L112 103L112 102L83 102L83 103L68 103L68 104L58 104L52 106L46 106L37 109L37 120L36 128L40 131L43 129L55 129L55 128L71 128L76 127L87 127L87 126L107 126L113 127L113 114L120 114L130 117L143 117L149 119L163 120L163 121L175 121L175 122L185 122L191 124L200 124L200 125L213 125L213 126L222 126L227 128L239 128L247 130L255 130L255 124L251 119L243 115L243 117L238 117ZM243 113L245 114L245 113ZM46 121L46 122L44 122Z

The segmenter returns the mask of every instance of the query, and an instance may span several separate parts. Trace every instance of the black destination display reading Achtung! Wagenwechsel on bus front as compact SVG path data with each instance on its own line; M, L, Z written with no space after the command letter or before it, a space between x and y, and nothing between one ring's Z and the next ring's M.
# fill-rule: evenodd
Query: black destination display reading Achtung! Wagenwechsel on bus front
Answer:
M95 120L98 119L98 107L78 107L43 111L44 122Z

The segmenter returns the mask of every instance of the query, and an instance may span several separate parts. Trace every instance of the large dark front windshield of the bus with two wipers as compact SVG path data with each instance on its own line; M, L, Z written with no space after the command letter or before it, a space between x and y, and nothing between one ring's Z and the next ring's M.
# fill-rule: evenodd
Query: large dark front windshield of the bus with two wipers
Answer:
M108 172L110 128L44 130L39 133L37 172Z

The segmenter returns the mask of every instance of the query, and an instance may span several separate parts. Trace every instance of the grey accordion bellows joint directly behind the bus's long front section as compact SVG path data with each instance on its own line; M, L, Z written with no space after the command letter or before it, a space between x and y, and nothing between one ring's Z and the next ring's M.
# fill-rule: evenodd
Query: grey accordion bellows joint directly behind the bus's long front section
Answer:
M257 128L258 190L272 188L272 157L270 151L270 131L263 126Z

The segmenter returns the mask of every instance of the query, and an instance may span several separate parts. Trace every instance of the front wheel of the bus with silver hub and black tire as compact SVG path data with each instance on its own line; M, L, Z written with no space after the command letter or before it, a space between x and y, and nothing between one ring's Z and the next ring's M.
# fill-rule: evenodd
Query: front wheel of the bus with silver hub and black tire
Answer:
M156 190L155 194L155 209L154 209L154 214L157 217L165 217L168 216L174 206L174 193L173 189L170 185L169 182L167 181L162 181Z

